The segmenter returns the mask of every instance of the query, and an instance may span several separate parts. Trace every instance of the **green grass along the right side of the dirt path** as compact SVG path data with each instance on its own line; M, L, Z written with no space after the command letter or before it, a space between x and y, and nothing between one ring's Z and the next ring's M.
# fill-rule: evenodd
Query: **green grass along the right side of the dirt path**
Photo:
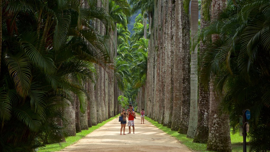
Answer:
M193 143L193 139L187 138L185 134L179 134L177 131L172 131L171 128L165 127L162 124L159 124L157 121L151 120L148 117L145 117L150 123L155 125L160 130L163 130L165 133L170 136L176 137L182 144L186 145L188 148L199 151L199 152L212 152L206 150L206 144ZM247 140L248 141L248 140ZM232 142L232 151L233 152L242 152L243 151L243 137L239 134L231 133L231 142ZM247 146L247 151L249 150L249 146Z

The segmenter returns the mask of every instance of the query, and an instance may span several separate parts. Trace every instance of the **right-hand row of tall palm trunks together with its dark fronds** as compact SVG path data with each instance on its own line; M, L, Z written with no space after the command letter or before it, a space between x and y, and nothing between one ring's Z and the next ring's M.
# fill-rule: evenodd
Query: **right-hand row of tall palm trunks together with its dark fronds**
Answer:
M144 9L148 2L131 4ZM270 136L263 133L269 129L268 82L264 80L269 69L268 3L191 1L190 18L189 1L154 1L143 97L147 116L194 142L207 143L208 150L231 151L230 128L239 131L239 115L252 109L251 151L269 150Z

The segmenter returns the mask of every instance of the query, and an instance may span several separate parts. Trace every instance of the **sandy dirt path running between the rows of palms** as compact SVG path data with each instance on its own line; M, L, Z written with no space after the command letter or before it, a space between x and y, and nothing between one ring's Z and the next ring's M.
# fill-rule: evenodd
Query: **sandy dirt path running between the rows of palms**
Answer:
M135 119L135 134L127 134L129 127L126 125L126 135L120 135L120 122L118 118L106 123L99 129L88 134L77 143L64 148L65 152L192 152L181 144L175 137L171 137L159 130L149 121L141 124L139 114ZM122 132L123 134L123 132ZM131 148L131 149L130 149ZM60 151L59 151L60 152Z

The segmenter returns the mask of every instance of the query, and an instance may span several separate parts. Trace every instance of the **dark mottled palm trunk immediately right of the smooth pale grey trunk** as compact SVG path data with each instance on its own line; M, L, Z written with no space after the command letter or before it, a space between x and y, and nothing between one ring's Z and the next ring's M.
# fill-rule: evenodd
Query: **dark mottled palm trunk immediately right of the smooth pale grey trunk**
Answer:
M201 8L204 8L204 7L209 7L208 5L206 5L206 0L201 1ZM204 11L201 11L201 31L207 25L207 19L206 19L207 15L209 14L206 14ZM204 47L205 45L201 41L200 54L203 54ZM198 125L197 125L197 133L193 140L193 142L195 143L207 143L208 130L209 130L209 114L210 114L209 87L205 89L200 81L201 79L202 77L199 76Z

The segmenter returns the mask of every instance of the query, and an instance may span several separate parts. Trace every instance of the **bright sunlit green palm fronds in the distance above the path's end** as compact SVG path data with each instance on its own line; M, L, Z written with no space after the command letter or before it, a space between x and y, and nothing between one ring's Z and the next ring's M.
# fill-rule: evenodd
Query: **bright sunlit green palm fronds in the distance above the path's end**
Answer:
M130 32L127 29L117 29L118 42L120 42L115 59L116 75L119 75L118 84L124 97L129 98L129 102L133 105L138 105L136 109L139 108L139 104L135 102L138 100L136 97L141 92L140 88L145 85L147 72L148 40L143 38L144 27L142 23L143 18L139 14L136 16L134 33L131 37L129 37ZM117 27L121 27L121 25L117 25Z

